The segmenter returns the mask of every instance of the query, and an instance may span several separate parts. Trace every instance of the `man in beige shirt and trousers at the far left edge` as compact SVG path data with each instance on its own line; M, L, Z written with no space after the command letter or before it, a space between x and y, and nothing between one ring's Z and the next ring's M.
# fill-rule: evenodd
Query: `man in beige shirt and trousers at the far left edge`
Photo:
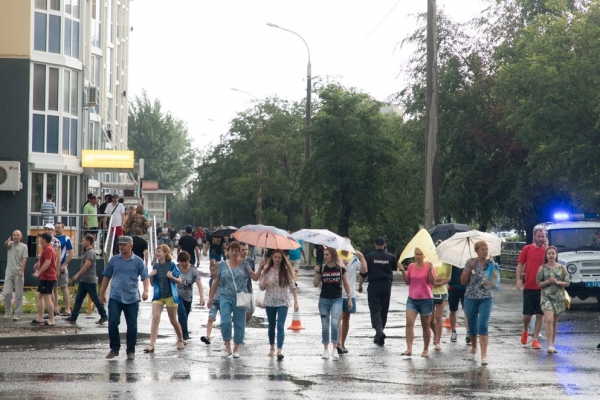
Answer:
M12 311L12 292L15 290L15 312L13 321L21 319L21 307L23 305L23 273L27 263L27 245L21 243L23 234L16 230L9 237L4 246L6 246L8 256L6 258L6 271L4 273L4 318L10 318Z

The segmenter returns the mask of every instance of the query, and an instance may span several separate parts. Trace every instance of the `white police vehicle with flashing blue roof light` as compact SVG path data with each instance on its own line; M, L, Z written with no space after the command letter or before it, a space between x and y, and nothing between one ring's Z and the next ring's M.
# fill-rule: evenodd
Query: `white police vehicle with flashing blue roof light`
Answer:
M571 297L585 300L595 296L600 302L600 221L598 214L557 213L556 222L538 224L548 236L548 244L558 250L558 262L567 267Z

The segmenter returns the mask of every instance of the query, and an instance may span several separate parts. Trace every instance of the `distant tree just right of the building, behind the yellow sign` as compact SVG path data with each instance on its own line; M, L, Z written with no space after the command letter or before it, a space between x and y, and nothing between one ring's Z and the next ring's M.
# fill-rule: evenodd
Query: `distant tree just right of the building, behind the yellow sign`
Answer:
M130 104L128 146L145 160L144 179L165 190L179 191L193 173L194 152L185 123L163 112L146 92Z

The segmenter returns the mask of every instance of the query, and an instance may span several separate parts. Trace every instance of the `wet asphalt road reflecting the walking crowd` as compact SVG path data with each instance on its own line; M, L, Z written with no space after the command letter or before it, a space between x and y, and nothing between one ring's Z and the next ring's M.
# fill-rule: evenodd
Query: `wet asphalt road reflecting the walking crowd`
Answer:
M201 269L206 271L207 266L203 263ZM123 351L118 360L105 360L106 342L3 350L0 399L600 398L596 362L600 307L595 300L574 300L573 310L563 314L559 323L559 353L549 356L545 340L540 340L544 350L520 344L521 297L512 285L503 284L490 323L490 364L481 366L465 359L469 347L463 326L458 329L458 343L450 343L450 332L444 329L442 350L436 352L431 346L429 358L400 355L406 348L407 288L397 279L385 347L373 344L366 294L362 294L351 320L349 353L332 361L320 358L319 292L312 288L311 278L311 271L301 271L299 300L306 329L286 330L281 362L266 356L264 310L257 311L246 330L241 358L223 360L218 329L211 346L199 340L205 333L207 310L195 302L190 315L193 340L183 351L175 348L166 312L155 353L144 354L148 340L140 340L135 361L126 361ZM290 313L286 326L291 319ZM139 329L150 331L150 302L142 303ZM420 354L420 326L415 332L413 351Z

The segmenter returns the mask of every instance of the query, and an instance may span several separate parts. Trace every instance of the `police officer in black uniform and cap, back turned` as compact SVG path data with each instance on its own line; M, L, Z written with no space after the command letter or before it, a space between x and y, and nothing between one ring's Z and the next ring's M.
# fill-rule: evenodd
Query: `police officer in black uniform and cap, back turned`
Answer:
M363 282L369 278L368 300L371 311L371 326L375 329L374 342L380 346L385 343L385 324L390 308L390 297L392 294L392 281L394 279L393 268L396 266L396 258L393 254L385 251L385 238L379 236L375 239L375 251L365 256L366 268L360 267L360 280L358 292L362 293Z

